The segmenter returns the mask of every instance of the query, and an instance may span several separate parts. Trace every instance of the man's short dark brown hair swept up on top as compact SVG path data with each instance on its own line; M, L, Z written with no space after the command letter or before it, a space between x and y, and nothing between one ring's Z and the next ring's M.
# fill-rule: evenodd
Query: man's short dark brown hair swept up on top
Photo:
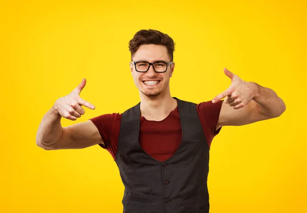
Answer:
M163 45L167 49L170 60L173 60L173 52L175 43L171 37L158 30L140 30L133 39L129 41L129 51L131 52L131 60L141 45Z

